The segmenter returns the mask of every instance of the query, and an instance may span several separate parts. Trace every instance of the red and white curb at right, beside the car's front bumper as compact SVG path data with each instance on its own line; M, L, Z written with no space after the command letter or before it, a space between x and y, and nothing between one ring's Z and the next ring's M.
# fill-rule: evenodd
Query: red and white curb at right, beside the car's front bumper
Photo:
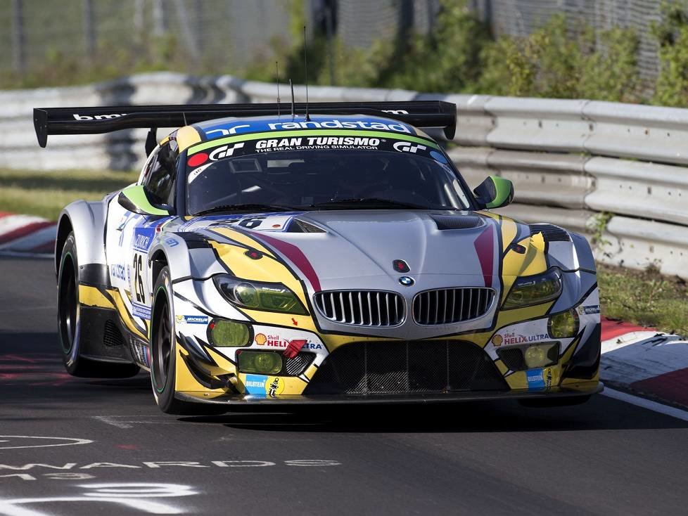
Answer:
M600 377L611 389L688 407L688 340L603 318Z

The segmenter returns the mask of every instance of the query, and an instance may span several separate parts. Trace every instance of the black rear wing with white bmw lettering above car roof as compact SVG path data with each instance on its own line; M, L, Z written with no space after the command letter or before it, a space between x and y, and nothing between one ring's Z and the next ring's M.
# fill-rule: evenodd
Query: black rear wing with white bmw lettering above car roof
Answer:
M305 113L306 104L294 105ZM117 105L98 108L34 108L34 127L41 147L49 134L102 134L120 129L182 127L223 117L288 115L291 103L278 104L191 104ZM310 115L371 115L391 118L423 128L440 128L447 139L457 127L456 104L442 101L408 102L321 102L309 103ZM148 146L148 145L147 145Z

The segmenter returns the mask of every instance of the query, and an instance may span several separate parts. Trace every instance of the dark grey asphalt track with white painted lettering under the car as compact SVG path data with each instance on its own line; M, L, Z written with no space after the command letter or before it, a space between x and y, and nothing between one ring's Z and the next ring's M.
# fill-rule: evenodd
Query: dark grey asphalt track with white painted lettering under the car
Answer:
M687 511L688 423L606 396L180 418L66 375L55 321L51 262L0 258L0 515Z

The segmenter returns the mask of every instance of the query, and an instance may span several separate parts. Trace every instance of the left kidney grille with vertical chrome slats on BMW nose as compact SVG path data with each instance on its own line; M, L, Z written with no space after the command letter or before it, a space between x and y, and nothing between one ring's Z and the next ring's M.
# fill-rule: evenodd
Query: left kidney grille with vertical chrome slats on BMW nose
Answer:
M396 326L404 321L404 298L381 290L318 292L315 305L330 321L359 326Z

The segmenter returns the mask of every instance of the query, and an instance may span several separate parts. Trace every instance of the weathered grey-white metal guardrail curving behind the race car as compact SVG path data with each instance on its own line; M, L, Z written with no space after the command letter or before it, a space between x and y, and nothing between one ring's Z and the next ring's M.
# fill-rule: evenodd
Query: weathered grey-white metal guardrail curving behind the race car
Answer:
M283 98L287 91L284 86ZM305 98L304 86L294 91ZM275 93L274 84L170 72L89 86L0 91L0 153L4 166L19 169L132 169L142 165L146 131L50 136L48 148L41 149L32 108L274 102ZM688 278L688 110L335 86L311 86L309 98L456 103L458 129L450 155L472 186L488 174L514 181L516 204L505 213L597 234L602 262L638 269L653 265Z

